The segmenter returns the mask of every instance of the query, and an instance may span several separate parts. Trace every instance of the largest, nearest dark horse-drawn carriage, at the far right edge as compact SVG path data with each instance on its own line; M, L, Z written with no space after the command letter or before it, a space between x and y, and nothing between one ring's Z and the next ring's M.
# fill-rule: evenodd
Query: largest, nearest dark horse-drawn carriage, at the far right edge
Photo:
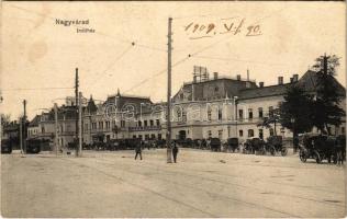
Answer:
M346 153L346 138L344 136L326 136L320 134L305 134L300 137L299 157L302 162L314 159L316 163L327 160L337 163L338 153ZM343 155L345 158L346 155Z

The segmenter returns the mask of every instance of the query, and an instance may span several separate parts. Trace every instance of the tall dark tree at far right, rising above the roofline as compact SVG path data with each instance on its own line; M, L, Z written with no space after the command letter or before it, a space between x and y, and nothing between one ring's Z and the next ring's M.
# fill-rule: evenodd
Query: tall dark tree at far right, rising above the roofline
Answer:
M345 111L339 107L345 92L337 89L335 80L336 68L339 66L339 58L333 56L320 56L315 60L313 70L317 72L316 100L313 107L314 126L322 132L331 135L328 125L339 126L342 117L346 116Z

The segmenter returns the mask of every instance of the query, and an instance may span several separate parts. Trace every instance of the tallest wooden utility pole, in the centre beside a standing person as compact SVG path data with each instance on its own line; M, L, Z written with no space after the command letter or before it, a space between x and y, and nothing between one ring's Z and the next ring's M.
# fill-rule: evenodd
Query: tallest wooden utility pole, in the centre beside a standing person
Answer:
M169 18L168 23L168 96L167 96L167 163L172 163L171 159L171 23L172 18Z

